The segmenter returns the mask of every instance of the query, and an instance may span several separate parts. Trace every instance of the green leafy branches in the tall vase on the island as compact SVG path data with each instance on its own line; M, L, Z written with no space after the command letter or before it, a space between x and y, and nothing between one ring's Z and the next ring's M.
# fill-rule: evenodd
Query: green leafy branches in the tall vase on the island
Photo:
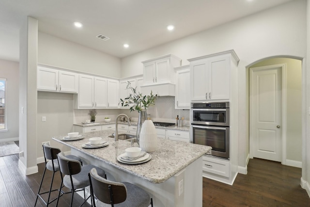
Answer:
M159 97L157 94L153 95L152 91L150 95L143 96L141 93L137 92L137 87L133 88L131 86L129 81L126 89L130 89L132 93L129 94L128 97L124 98L124 100L121 98L120 103L122 106L130 106L130 112L135 110L138 112L147 110L151 105L155 105L155 100Z

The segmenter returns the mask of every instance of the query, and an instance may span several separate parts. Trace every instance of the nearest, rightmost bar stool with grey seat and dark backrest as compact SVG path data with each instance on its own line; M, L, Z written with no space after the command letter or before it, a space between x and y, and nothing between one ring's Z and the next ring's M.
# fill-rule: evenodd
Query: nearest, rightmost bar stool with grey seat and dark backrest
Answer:
M94 207L153 207L153 199L140 187L131 183L109 181L97 174L96 169L89 173L91 195ZM94 196L98 198L95 204Z

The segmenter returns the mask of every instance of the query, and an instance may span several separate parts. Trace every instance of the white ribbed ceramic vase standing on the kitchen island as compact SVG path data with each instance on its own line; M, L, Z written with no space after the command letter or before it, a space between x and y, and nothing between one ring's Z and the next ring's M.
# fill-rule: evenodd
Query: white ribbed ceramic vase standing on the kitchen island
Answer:
M140 148L145 152L154 152L157 149L157 134L152 120L145 120L140 131Z

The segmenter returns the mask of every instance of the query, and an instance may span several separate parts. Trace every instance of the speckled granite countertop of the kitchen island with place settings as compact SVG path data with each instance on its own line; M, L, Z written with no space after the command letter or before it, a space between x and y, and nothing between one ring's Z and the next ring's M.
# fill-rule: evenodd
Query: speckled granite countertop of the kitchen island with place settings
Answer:
M150 161L135 165L124 164L119 162L117 157L123 154L127 147L138 146L138 144L132 145L123 140L115 142L114 138L108 137L113 132L114 130L88 132L84 133L84 139L77 141L61 141L62 137L53 137L53 140L152 183L165 182L212 149L210 146L158 138L157 150L150 153L152 156ZM82 144L89 142L91 137L102 137L109 142L109 145L97 149L82 148Z

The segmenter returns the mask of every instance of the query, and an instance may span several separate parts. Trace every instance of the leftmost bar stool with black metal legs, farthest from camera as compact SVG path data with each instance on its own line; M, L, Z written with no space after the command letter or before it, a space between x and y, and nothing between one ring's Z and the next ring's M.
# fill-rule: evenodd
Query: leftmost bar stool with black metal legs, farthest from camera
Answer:
M61 152L61 150L59 148L51 147L48 143L44 143L43 144L43 153L44 153L44 159L45 159L45 169L44 169L44 173L43 173L43 176L42 176L42 179L41 179L39 191L38 191L37 198L35 200L34 206L36 206L39 197L42 199L42 201L45 203L45 205L47 205L47 207L48 207L48 205L50 203L52 203L53 201L58 199L58 197L56 197L53 200L49 201L50 193L53 192L53 191L59 191L59 189L52 190L52 185L53 185L54 175L55 175L55 173L57 171L59 171L59 164L58 164L58 160L57 160L57 154L60 153L60 152ZM74 155L67 155L66 157L68 157L70 159L76 159L76 160L82 162L82 160L80 158L78 158L77 156L74 156ZM47 159L49 159L49 161L47 161ZM44 175L46 173L46 170L50 170L50 171L53 172L52 179L51 179L51 182L50 182L49 191L40 192L41 188L42 188L42 183L43 183L43 179L44 179ZM48 193L47 201L45 201L44 198L42 197L42 195L46 194L46 193Z

